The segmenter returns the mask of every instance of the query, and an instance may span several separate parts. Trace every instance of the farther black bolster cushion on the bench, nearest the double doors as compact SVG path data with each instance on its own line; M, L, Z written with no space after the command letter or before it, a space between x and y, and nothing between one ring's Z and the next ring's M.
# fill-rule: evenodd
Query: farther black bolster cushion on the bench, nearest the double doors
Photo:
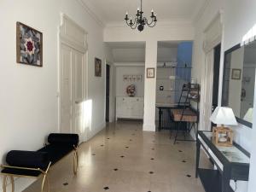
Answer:
M79 144L78 134L64 134L64 133L51 133L48 137L49 144L67 144L75 145Z

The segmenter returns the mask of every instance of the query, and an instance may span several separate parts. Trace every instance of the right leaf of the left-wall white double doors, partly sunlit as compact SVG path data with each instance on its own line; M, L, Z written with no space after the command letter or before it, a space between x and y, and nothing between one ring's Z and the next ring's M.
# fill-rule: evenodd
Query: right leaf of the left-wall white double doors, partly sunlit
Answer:
M84 54L73 50L73 88L74 88L74 126L73 132L79 134L81 140L84 140Z

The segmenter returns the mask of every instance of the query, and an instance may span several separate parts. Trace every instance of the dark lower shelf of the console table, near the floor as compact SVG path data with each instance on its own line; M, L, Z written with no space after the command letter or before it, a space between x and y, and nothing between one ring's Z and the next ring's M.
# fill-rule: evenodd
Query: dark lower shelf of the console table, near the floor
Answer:
M221 191L221 174L217 170L198 169L198 174L206 192ZM227 192L234 191L231 188L229 188Z

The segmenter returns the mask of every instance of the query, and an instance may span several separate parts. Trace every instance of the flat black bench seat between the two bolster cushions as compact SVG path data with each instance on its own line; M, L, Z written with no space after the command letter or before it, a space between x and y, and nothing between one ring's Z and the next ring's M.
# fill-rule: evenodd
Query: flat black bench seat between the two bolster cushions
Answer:
M52 165L58 160L61 160L65 155L73 150L73 145L68 144L49 144L44 148L38 150L38 152L45 152L49 155L49 160Z

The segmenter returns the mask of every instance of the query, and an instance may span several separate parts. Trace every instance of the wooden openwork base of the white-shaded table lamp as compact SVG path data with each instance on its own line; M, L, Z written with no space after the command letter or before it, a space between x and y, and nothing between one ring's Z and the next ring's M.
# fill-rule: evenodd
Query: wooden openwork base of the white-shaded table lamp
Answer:
M218 146L233 146L233 131L229 127L219 126L213 127L212 135Z

